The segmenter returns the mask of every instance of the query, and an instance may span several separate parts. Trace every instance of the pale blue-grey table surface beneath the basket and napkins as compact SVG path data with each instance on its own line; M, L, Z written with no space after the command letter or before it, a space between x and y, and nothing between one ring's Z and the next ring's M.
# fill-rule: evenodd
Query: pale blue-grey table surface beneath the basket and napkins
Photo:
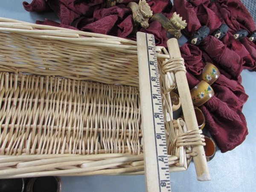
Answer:
M54 13L38 14L26 12L23 0L0 0L0 17L35 23L45 18L58 21ZM28 1L29 3L31 0ZM212 180L200 182L196 179L195 166L190 164L185 172L171 173L173 192L256 192L256 72L241 73L249 99L243 113L247 119L249 134L244 143L232 151L216 152L209 161ZM143 192L145 177L139 176L84 176L61 177L62 192Z

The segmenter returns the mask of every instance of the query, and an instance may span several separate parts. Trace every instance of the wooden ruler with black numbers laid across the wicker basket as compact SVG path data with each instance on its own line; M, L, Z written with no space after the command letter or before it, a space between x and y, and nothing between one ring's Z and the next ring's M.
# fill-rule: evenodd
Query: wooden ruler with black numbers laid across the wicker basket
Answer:
M137 32L145 180L148 192L171 191L154 35Z

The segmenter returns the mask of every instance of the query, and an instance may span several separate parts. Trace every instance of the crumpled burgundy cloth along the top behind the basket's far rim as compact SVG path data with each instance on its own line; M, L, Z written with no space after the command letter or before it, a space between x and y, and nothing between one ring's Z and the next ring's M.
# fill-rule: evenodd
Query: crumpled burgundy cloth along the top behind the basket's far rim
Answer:
M106 1L103 0L33 0L32 3L23 2L24 8L29 12L54 11L61 20L62 27L76 29L86 32L95 32L105 35L112 35L121 38L136 40L136 34L133 31L133 18L131 9L126 7L133 0L124 0L117 3L116 6L106 8ZM138 3L139 0L133 1ZM153 14L169 13L172 9L172 3L169 0L147 0ZM53 22L45 20L37 23L52 25ZM168 41L166 31L159 22L149 21L150 26L147 29L140 28L139 31L153 34L156 45L166 47ZM58 25L54 23L54 26Z

